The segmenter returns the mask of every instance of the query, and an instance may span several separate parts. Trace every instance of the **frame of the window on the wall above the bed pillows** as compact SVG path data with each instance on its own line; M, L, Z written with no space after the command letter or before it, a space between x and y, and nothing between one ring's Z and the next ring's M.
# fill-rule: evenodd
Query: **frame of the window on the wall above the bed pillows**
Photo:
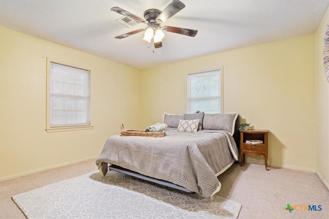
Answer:
M192 73L192 74L188 74L187 75L187 112L188 113L193 113L191 110L191 84L190 84L190 75L193 74L207 74L207 73L211 73L211 72L215 72L215 71L219 71L220 74L220 96L218 98L220 98L220 102L221 102L221 109L220 112L218 113L223 113L224 112L224 73L223 73L223 67L218 68L216 70L212 70L212 71L204 71L204 72L197 72L197 73ZM209 97L203 97L205 99L209 98ZM205 112L205 113L209 113L209 112Z

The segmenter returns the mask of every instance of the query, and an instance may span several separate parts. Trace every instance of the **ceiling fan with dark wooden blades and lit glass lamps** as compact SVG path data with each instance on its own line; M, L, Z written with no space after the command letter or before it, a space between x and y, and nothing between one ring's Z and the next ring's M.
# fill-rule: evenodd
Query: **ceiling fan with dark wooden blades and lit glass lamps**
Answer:
M144 29L141 28L128 33L124 33L114 38L122 39L145 30L143 37L144 41L147 41L149 43L153 41L154 48L160 48L162 46L162 39L163 37L165 37L165 33L163 33L163 31L194 37L197 34L197 30L180 28L180 27L171 27L171 26L165 26L165 27L160 26L160 24L167 21L170 17L172 17L174 14L176 14L178 11L180 11L183 8L185 8L185 5L182 2L178 0L173 0L162 12L158 9L146 10L144 12L145 19L143 19L131 12L123 10L122 8L113 7L111 8L111 11L129 17L137 23L143 23L148 25L147 28Z

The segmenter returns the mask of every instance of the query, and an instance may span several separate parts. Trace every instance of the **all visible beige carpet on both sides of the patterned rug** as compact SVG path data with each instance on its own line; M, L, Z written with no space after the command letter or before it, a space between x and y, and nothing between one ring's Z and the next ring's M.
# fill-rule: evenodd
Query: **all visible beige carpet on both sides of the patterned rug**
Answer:
M88 161L1 182L0 218L25 218L11 196L93 171L95 161ZM218 178L217 195L242 204L238 218L329 218L329 191L315 173L234 164ZM289 213L287 204L322 205L322 210Z

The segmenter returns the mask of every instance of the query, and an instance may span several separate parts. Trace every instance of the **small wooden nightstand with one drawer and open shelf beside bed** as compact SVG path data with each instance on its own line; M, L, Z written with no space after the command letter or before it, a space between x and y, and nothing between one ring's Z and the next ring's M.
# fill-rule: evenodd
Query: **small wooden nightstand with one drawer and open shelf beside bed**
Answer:
M252 156L264 155L265 157L265 169L267 168L267 134L268 130L243 130L240 131L240 156L241 164L245 161L245 154ZM247 140L261 140L264 144L251 145L246 144Z

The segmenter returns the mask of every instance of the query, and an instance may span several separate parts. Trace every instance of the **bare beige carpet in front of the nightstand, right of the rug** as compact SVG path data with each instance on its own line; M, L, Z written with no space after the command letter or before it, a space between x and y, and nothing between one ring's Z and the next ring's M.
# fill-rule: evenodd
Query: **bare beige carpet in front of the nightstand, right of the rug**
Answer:
M329 191L316 173L234 165L218 176L218 195L242 204L239 218L329 218ZM287 204L322 205L321 211L289 211Z

